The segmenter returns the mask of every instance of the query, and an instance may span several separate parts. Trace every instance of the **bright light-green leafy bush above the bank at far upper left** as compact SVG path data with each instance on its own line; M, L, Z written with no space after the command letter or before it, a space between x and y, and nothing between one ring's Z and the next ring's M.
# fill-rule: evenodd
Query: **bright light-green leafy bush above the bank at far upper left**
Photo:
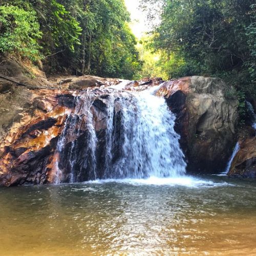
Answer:
M37 40L41 38L34 10L0 6L0 52L13 53L32 61L41 59Z

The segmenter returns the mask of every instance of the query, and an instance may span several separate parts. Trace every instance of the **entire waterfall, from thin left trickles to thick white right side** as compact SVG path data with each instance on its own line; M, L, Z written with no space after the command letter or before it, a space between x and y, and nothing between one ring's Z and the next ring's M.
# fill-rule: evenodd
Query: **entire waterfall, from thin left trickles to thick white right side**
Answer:
M75 98L55 151L55 183L185 174L176 117L163 98L96 90Z

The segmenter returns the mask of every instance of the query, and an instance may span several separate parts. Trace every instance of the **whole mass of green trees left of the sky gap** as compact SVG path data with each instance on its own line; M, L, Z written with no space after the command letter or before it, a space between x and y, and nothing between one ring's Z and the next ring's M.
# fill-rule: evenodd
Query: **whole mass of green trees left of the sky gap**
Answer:
M30 59L42 55L48 74L131 79L141 68L123 0L8 0L1 8L6 32L1 51Z

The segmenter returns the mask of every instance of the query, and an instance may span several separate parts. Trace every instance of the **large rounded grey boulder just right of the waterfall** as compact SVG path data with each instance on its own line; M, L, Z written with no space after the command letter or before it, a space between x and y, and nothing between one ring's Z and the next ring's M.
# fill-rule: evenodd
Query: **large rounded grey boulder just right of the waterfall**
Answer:
M157 92L176 113L176 131L188 160L188 171L218 173L225 168L238 120L233 90L219 78L183 77L165 82Z

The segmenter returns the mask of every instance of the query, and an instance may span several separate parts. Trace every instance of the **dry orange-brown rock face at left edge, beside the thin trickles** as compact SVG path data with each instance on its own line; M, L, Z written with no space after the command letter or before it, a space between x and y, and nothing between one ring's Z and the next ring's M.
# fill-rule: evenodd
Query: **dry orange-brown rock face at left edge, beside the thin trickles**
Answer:
M18 98L6 95L5 101L11 102L7 106L13 109L2 112L0 185L5 186L44 183L52 148L67 116L57 92L19 90L15 90L22 93Z

